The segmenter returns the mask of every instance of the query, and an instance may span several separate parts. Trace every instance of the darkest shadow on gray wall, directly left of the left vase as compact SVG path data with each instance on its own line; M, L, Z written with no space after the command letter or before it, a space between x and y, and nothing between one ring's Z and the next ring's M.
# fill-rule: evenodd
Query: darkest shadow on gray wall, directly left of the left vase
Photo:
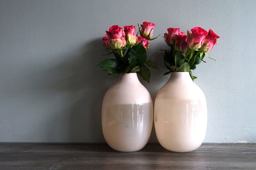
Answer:
M97 64L106 56L101 47L102 39L95 39L84 46L81 55L62 64L60 70L68 69L70 76L59 82L61 89L72 91L72 104L68 110L68 141L104 141L101 126L102 99L106 90L115 83L115 76L107 76Z

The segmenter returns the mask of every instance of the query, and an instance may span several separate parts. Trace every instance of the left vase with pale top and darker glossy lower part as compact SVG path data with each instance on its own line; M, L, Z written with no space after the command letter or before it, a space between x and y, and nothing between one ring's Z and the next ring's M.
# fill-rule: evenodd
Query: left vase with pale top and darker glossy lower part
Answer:
M102 103L102 131L108 145L120 152L141 150L150 137L153 104L136 73L122 74Z

